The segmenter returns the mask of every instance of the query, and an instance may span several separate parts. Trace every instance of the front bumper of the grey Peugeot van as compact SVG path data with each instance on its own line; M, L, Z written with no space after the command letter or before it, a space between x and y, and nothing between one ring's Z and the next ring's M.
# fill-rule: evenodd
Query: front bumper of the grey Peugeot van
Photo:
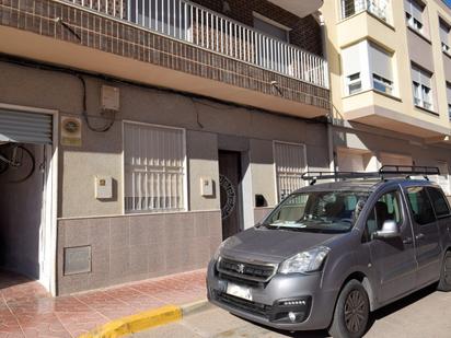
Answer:
M208 300L240 317L286 330L313 330L329 326L338 290L324 290L320 272L275 275L267 283L229 279L210 261L207 272ZM251 291L252 301L227 293L229 283Z

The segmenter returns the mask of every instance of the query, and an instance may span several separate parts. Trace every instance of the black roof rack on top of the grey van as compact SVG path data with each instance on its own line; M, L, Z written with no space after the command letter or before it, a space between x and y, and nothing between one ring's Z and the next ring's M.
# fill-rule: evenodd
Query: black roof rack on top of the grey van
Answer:
M423 176L429 180L429 175L440 175L440 170L437 166L384 165L378 172L307 172L302 174L302 179L309 180L310 185L314 185L317 180L324 179L385 179L386 176L404 176L407 179L412 176Z

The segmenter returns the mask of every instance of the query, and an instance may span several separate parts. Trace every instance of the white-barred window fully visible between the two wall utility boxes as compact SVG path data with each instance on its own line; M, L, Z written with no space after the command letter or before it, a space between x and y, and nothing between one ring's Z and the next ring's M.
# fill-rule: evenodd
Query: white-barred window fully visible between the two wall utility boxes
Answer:
M124 124L125 211L186 210L185 130Z

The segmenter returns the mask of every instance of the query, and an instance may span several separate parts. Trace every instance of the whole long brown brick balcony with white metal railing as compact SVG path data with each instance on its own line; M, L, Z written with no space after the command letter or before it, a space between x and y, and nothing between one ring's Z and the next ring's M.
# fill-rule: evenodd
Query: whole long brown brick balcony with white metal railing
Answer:
M323 58L196 3L28 2L0 5L14 18L0 26L0 38L11 42L1 53L303 117L325 115L329 107Z

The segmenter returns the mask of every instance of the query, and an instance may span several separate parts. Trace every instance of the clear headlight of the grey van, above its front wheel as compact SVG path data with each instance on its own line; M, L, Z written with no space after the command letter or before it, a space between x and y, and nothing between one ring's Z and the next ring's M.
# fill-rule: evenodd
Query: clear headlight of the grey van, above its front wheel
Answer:
M299 253L281 263L279 272L288 275L317 271L322 268L329 250L331 248L327 246L319 246L308 252Z

